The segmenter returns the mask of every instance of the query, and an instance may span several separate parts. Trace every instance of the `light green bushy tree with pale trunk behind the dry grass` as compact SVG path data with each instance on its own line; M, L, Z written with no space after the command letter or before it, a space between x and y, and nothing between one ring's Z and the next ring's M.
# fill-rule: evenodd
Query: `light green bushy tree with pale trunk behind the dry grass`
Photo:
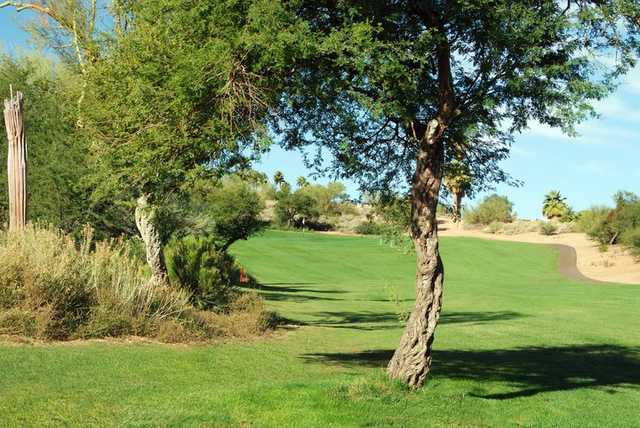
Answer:
M93 142L93 201L138 201L147 261L162 279L171 230L160 208L198 177L246 167L266 146L262 124L298 42L295 23L277 2L126 7L120 15L127 26L86 73L82 116Z

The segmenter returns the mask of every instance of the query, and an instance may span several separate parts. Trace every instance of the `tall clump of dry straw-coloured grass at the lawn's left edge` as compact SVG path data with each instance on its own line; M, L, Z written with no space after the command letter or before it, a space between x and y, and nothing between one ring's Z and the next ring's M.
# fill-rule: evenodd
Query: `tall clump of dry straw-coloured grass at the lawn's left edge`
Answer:
M43 340L149 336L162 339L167 326L185 340L237 336L221 317L251 318L251 332L268 328L260 301L243 296L210 317L194 308L180 284L154 281L123 240L80 242L48 227L0 233L0 334ZM237 314L236 314L237 312ZM195 314L195 315L194 315ZM240 315L238 315L240 314ZM198 322L194 322L198 319ZM244 335L244 333L242 334ZM175 341L175 334L172 340Z

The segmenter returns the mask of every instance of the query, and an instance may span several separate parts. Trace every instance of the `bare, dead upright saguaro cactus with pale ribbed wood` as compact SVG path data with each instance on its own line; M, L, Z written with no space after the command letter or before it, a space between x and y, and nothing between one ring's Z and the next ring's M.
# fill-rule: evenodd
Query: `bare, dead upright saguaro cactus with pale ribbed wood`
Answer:
M9 230L22 230L27 224L27 141L24 135L23 97L21 92L4 100L4 124L9 153Z

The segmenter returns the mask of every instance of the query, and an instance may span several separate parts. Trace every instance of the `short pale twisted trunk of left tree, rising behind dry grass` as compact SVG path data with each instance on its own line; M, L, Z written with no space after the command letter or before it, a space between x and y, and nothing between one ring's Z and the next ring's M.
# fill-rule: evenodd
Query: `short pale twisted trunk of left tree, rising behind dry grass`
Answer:
M145 244L147 263L151 268L152 279L157 282L167 280L167 266L164 260L162 239L155 223L155 211L146 195L140 196L136 205L136 226Z

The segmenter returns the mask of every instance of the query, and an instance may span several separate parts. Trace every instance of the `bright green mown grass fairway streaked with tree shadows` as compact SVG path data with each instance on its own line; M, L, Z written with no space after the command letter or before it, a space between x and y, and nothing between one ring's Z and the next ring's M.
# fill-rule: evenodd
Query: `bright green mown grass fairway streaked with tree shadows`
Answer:
M2 346L0 426L640 426L640 286L566 279L542 246L449 238L442 251L422 390L383 371L413 256L270 231L234 253L304 327L219 346Z

